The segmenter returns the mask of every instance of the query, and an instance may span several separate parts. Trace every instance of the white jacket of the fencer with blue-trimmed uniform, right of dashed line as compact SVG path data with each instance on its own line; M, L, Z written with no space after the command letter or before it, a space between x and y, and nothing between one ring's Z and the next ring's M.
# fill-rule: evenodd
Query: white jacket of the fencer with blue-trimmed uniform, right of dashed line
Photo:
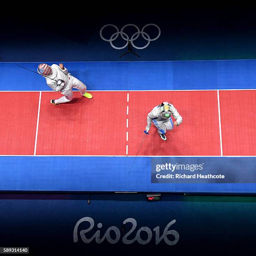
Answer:
M176 119L178 125L180 123L182 123L182 117L181 115L179 115L179 112L177 111L176 108L174 108L174 105L170 104L169 105L171 106L171 112L172 112L172 116ZM153 108L153 110L148 113L148 118L147 118L147 127L150 128L151 127L151 122L152 122L152 119L155 119L157 120L158 122L164 122L166 120L170 120L171 117L167 118L167 119L164 119L164 118L161 118L161 110L160 110L160 107L161 105L158 105L156 107Z

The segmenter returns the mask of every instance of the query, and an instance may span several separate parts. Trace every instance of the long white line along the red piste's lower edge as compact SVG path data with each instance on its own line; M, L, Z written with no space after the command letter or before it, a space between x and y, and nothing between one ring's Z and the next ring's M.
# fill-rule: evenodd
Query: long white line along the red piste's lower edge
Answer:
M128 149L128 145L126 145ZM33 156L34 155L0 155L1 156ZM135 156L126 156L126 155L35 155L35 157L135 157ZM256 157L256 156L139 156L139 157L220 157L220 158L228 158L228 157Z

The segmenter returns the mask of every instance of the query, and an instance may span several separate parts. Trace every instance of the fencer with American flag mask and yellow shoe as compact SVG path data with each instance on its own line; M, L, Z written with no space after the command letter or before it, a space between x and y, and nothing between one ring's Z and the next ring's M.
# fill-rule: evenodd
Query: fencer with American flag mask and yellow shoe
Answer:
M51 100L51 103L54 105L71 101L73 99L73 87L78 89L82 96L88 99L92 98L92 95L86 92L86 85L69 74L68 70L63 67L63 64L59 64L59 66L52 64L49 66L43 63L38 66L37 71L45 77L46 83L54 92L61 92L64 95L57 100Z

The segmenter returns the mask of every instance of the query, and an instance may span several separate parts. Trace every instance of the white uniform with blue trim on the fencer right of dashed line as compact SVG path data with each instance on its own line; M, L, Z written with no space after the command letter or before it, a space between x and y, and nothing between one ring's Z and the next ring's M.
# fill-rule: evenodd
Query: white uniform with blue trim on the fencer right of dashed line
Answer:
M174 105L170 104L171 106L171 113L172 116L176 119L178 125L182 123L182 117L179 115L179 112L177 111L176 108L174 108ZM172 118L169 117L167 119L164 119L161 117L161 110L160 110L161 105L158 105L153 108L153 110L148 113L148 118L147 118L147 127L151 127L151 123L153 122L156 128L158 129L158 132L160 134L165 134L167 130L172 130L173 129L173 122Z

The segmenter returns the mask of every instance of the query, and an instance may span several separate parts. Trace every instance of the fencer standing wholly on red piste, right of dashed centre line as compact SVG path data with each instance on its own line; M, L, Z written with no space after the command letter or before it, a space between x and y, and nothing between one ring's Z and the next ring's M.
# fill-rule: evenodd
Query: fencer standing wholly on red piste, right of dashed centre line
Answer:
M172 116L176 121L172 121ZM172 130L173 125L178 126L182 123L182 116L174 105L169 102L162 102L160 105L153 108L153 110L148 113L146 132L148 133L151 123L157 128L157 132L162 140L166 141L166 131Z

